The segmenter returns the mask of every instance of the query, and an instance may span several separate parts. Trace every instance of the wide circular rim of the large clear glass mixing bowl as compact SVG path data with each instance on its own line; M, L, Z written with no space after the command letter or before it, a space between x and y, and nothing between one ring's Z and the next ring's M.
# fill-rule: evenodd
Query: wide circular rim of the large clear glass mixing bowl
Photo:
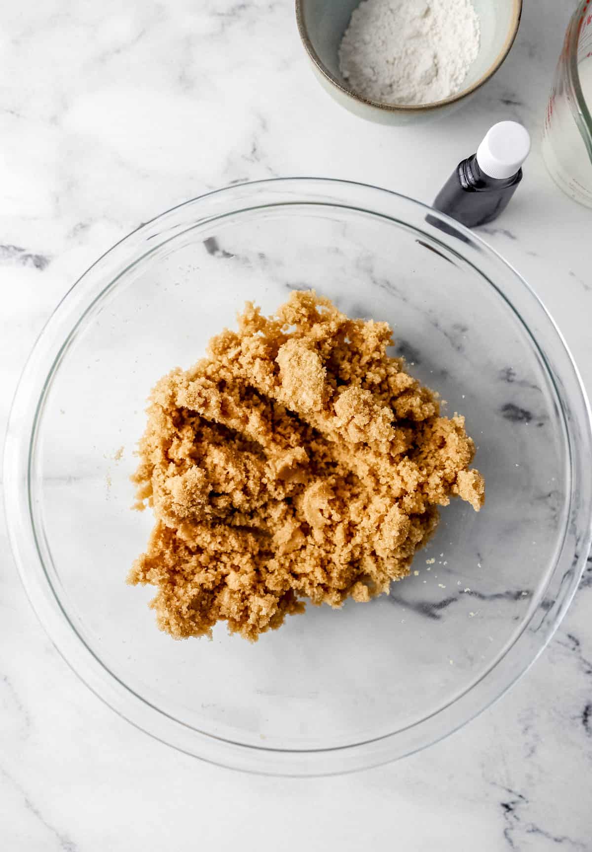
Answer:
M533 602L520 635L503 648L480 680L407 728L374 740L318 750L246 746L190 728L148 704L108 671L67 619L50 584L43 563L42 531L35 526L32 482L32 454L45 395L78 323L95 302L135 262L181 233L249 210L298 204L346 208L396 222L428 239L428 247L440 245L467 262L494 287L514 310L555 387L571 481L566 527L545 594L538 603ZM427 222L428 213L446 231ZM530 327L523 315L528 316ZM38 337L14 395L4 453L6 515L14 559L38 619L73 671L113 710L156 739L212 763L266 774L331 774L387 763L431 745L485 710L532 665L566 613L589 552L592 480L587 470L591 455L589 404L566 343L534 291L497 252L454 220L399 193L325 178L279 178L216 190L168 210L114 245L66 293Z

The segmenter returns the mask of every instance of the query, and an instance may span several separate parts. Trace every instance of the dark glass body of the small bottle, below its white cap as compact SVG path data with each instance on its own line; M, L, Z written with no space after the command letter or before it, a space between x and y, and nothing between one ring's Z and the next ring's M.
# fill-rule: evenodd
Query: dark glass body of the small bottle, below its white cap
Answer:
M467 227L486 225L506 208L521 180L521 168L510 177L486 175L473 154L457 165L432 206Z

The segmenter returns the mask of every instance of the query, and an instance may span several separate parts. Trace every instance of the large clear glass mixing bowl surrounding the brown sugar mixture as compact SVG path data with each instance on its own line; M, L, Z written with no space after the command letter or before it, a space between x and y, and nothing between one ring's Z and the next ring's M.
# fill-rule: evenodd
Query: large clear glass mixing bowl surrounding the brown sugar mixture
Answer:
M466 414L485 509L442 509L388 596L308 607L256 644L224 625L212 642L175 642L154 623L152 590L125 583L152 526L129 510L145 400L245 299L273 312L308 287L388 320L411 372ZM382 189L263 181L149 222L60 303L10 418L9 533L55 645L124 717L230 767L339 772L450 734L537 657L588 552L590 456L559 332L480 239Z

